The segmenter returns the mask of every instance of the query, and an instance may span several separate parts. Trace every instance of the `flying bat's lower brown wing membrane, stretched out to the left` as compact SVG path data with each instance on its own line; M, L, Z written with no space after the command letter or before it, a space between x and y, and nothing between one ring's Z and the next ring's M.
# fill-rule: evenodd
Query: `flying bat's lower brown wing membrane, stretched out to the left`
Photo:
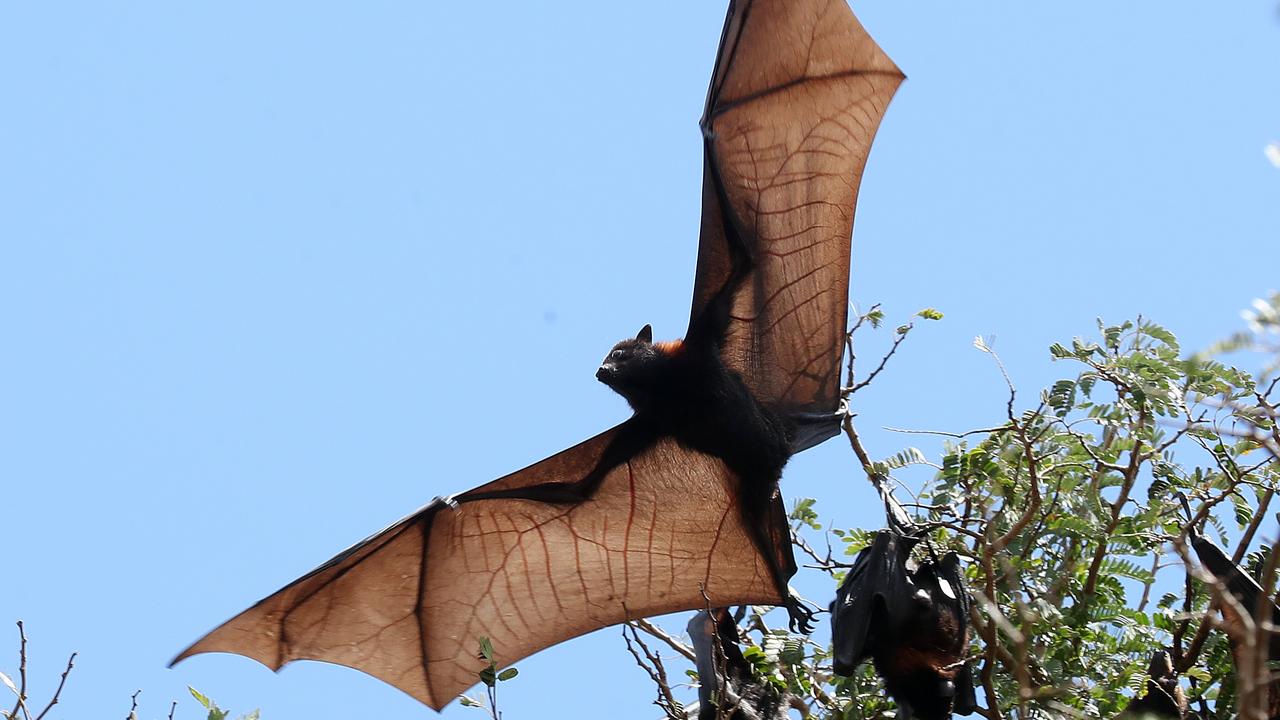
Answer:
M742 527L737 479L662 439L577 503L468 500L590 473L618 428L456 498L433 502L205 635L174 662L234 652L279 670L323 660L439 710L499 665L591 630L783 598ZM678 500L673 500L678 498ZM774 498L777 501L777 498Z

